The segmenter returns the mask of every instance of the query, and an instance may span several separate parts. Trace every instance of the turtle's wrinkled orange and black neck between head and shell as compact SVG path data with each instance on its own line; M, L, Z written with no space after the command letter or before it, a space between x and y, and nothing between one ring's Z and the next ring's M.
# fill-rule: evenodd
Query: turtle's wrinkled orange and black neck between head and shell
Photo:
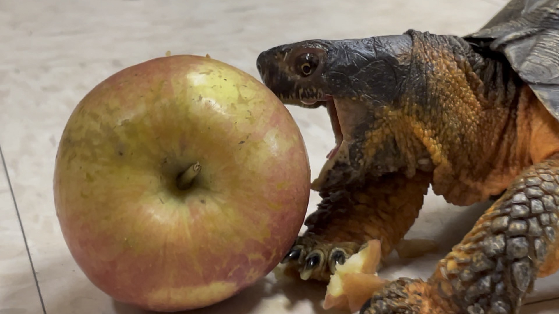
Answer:
M476 53L460 37L406 34L410 72L392 121L401 124L391 129L421 143L429 163L420 164L432 167L433 191L447 201L469 205L500 194L530 163L518 103L531 92L504 58ZM400 151L418 154L409 144ZM413 164L406 172L413 175Z

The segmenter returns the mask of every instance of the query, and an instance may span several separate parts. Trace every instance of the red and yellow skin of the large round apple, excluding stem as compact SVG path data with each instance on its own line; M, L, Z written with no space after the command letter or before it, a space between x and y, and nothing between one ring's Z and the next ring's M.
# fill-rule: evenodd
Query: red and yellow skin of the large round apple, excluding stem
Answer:
M190 189L179 173L198 161ZM70 253L114 299L179 311L220 302L281 261L310 195L304 141L262 83L209 57L133 65L79 102L54 200Z

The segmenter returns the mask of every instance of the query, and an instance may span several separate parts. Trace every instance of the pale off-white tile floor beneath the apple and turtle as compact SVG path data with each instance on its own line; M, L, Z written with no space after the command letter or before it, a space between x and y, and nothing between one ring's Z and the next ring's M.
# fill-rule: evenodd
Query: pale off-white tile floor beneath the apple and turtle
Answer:
M505 0L1 0L0 313L141 313L113 302L75 265L56 220L52 175L61 131L89 89L170 50L209 53L257 75L268 47L312 37L467 34ZM324 111L290 111L307 141L314 178L333 146ZM9 179L8 179L9 178ZM312 194L309 210L319 198ZM445 239L440 254L395 261L387 277L427 277L485 204L459 210L429 195L410 236ZM441 223L444 222L444 225ZM465 223L468 222L468 223ZM559 313L559 274L538 280L522 313ZM273 275L195 313L326 313L324 288L276 284ZM555 299L555 300L553 300ZM550 301L551 300L551 301Z

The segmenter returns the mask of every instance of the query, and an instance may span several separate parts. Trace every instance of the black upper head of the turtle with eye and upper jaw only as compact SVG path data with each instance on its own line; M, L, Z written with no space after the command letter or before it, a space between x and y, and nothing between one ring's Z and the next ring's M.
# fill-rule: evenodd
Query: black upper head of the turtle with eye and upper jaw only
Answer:
M315 39L263 51L256 65L264 84L286 104L317 108L329 97L387 103L399 96L410 50L409 35Z

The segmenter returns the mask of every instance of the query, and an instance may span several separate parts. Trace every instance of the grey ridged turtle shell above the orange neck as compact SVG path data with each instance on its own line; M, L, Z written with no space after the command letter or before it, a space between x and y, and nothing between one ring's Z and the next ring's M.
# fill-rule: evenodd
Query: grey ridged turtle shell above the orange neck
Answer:
M478 50L505 55L559 120L559 0L511 0L464 39Z

